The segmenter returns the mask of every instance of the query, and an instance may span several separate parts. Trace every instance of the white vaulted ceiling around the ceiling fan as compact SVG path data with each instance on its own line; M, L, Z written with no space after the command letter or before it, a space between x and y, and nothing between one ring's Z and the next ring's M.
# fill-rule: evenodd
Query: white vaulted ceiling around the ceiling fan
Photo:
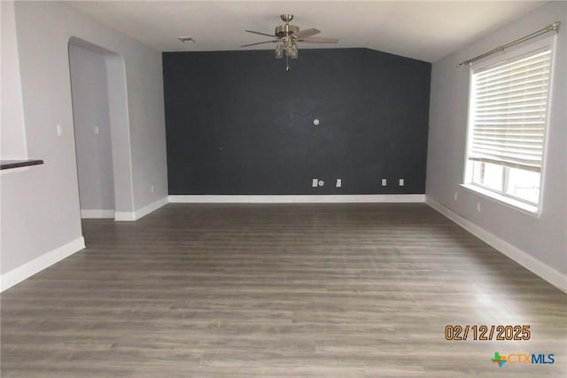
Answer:
M292 13L300 29L366 47L434 62L544 4L541 1L75 1L74 7L160 51L245 50L269 37ZM179 42L189 35L196 42ZM273 49L272 43L246 49Z

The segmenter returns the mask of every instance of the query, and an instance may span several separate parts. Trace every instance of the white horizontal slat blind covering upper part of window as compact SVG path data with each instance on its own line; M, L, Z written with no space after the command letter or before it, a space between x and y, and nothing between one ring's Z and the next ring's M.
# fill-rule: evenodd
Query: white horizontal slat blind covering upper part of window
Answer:
M472 73L469 159L540 172L551 49Z

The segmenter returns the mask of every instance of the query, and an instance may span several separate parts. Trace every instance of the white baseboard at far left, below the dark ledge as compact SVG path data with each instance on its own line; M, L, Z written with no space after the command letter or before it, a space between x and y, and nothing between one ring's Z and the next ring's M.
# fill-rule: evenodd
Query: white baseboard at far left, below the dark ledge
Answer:
M43 271L43 269L52 266L63 258L69 257L84 248L85 240L81 236L73 242L66 243L53 251L46 252L26 264L12 269L10 272L0 275L0 291L12 288L12 286L19 282L26 280L32 275Z

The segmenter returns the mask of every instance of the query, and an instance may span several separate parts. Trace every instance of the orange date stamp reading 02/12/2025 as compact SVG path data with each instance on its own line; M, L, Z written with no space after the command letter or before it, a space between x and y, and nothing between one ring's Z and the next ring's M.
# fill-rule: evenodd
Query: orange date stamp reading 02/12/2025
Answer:
M530 340L530 326L447 326L446 340Z

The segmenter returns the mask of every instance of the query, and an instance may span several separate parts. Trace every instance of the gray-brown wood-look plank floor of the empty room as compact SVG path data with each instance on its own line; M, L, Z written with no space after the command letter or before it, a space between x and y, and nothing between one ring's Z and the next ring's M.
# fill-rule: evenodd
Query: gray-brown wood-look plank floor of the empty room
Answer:
M567 295L425 204L168 204L83 231L2 294L4 378L567 373ZM532 337L447 341L448 324Z

